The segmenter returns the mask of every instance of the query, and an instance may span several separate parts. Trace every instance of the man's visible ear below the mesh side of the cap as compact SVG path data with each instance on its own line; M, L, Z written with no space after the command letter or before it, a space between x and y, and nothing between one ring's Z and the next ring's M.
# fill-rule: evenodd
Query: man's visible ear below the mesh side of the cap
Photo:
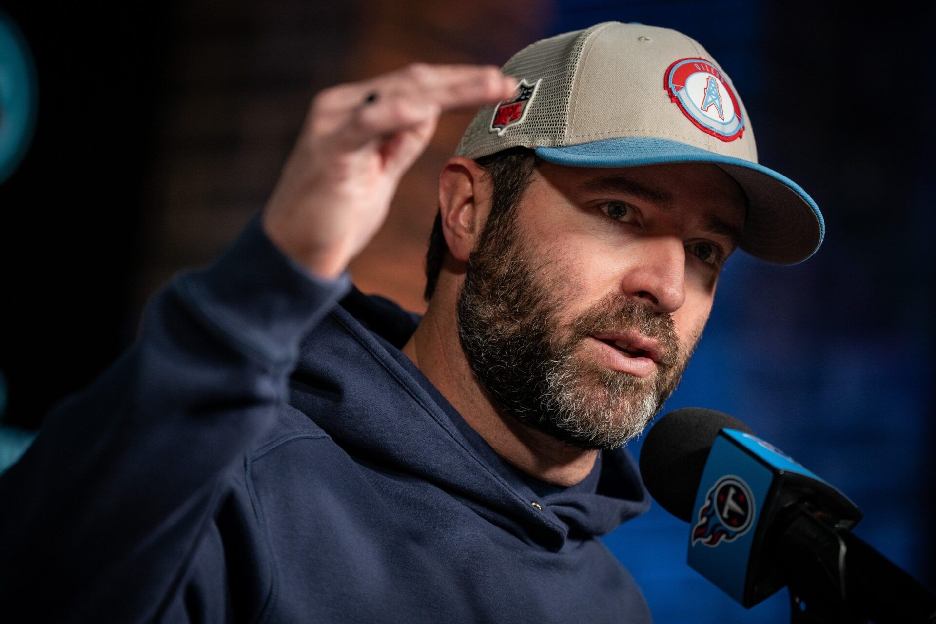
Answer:
M490 212L490 176L474 160L455 156L439 173L439 211L448 251L467 262Z

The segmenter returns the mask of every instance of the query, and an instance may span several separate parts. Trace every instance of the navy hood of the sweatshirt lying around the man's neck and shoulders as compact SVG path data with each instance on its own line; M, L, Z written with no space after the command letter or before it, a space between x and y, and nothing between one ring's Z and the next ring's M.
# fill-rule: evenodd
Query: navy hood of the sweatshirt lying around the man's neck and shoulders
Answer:
M537 496L400 351L420 319L352 287L303 342L290 403L352 457L427 480L549 550L647 511L624 448L602 452L575 486Z

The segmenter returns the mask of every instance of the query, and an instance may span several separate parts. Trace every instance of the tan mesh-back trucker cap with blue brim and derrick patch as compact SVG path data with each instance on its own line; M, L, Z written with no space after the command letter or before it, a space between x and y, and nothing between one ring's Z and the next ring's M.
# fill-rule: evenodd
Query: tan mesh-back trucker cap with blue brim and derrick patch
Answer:
M519 80L517 95L478 110L455 155L523 146L572 167L714 163L747 195L740 249L795 264L822 244L819 208L796 182L757 164L744 104L692 37L602 22L536 41L503 72Z

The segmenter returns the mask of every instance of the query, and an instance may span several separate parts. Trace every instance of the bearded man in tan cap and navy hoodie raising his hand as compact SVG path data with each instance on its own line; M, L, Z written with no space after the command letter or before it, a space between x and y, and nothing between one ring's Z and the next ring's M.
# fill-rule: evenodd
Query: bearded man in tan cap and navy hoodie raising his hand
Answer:
M420 317L353 288L445 109ZM502 69L318 94L270 202L0 478L7 621L649 622L598 540L736 248L822 218L688 36L605 22ZM55 600L37 600L54 596Z

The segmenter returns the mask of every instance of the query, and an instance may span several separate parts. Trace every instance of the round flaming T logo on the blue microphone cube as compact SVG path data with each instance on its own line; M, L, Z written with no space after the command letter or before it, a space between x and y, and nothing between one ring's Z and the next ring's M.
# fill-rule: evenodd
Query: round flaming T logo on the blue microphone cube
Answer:
M737 476L724 476L711 486L693 527L692 545L716 546L733 542L753 526L751 488Z

